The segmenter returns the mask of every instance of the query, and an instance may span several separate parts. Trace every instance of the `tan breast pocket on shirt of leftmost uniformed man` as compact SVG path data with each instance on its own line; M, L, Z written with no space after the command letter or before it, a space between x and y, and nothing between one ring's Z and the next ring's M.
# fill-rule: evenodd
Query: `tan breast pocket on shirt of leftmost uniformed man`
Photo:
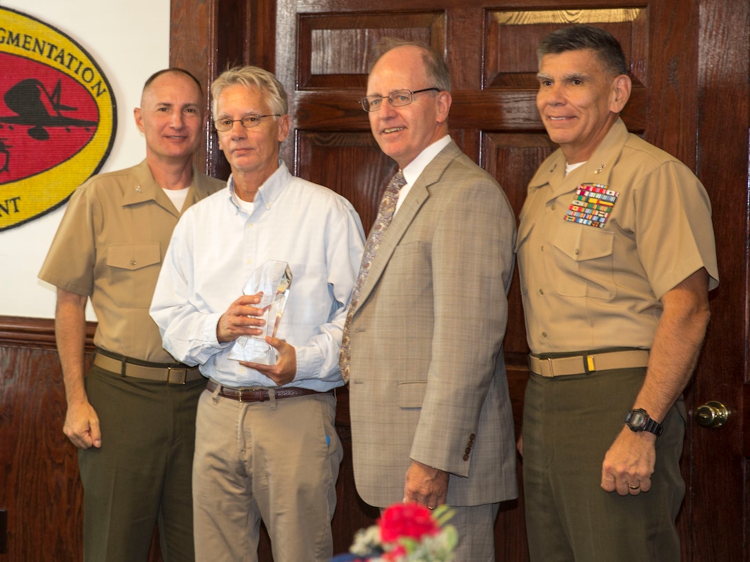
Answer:
M159 277L161 247L158 242L110 244L107 247L108 294L123 308L148 308Z

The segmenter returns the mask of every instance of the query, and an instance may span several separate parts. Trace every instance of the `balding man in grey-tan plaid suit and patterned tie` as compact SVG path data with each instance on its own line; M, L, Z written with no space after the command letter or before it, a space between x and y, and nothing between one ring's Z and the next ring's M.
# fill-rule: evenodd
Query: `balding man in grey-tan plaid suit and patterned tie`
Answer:
M362 106L405 185L368 239L341 369L362 499L447 503L456 559L488 562L499 502L517 497L502 358L515 220L448 134L450 89L442 56L416 43L392 43L371 70Z

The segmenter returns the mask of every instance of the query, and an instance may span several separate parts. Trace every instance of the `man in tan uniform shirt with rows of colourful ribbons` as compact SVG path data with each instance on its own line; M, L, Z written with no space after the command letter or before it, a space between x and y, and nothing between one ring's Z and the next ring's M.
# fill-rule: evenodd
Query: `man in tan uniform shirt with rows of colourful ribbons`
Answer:
M677 562L681 393L718 284L709 199L620 120L631 82L607 31L560 29L538 56L560 148L529 183L516 244L530 559Z

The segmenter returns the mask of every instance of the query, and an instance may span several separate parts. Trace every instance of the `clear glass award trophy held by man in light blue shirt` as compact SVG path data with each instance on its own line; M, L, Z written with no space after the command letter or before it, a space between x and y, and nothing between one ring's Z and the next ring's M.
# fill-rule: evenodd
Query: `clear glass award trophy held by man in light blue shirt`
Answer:
M276 331L287 304L289 288L292 284L292 271L287 262L270 260L254 271L245 283L243 294L263 292L260 303L254 305L263 309L266 325L260 336L239 336L229 350L229 359L250 361L263 365L274 365L278 359L278 351L266 343L266 336L276 337Z

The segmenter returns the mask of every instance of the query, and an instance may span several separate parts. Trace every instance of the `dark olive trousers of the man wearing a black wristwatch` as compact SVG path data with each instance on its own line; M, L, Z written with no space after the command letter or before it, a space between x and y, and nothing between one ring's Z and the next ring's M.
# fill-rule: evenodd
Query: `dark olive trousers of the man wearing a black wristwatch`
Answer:
M646 369L543 378L523 406L523 491L531 562L679 562L674 521L685 495L680 398L662 422L649 492L601 489L604 453L623 426Z

